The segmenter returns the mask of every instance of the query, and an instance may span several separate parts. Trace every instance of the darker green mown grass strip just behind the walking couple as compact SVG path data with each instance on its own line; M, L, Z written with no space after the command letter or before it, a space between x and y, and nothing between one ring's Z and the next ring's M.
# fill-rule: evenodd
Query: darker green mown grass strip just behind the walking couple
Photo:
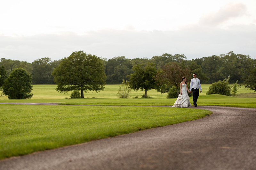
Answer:
M112 105L112 106L172 106L176 99L78 99L69 100L68 105ZM190 97L193 105L193 97ZM198 106L229 106L256 108L256 98L234 98L230 96L211 94L201 95L197 100Z

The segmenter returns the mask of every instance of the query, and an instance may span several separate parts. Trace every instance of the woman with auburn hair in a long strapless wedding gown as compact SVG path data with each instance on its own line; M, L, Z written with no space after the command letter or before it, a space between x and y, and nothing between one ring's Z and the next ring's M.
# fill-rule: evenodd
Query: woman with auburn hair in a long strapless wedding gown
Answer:
M189 96L187 91L188 86L186 82L187 78L183 77L182 82L180 83L180 94L177 100L175 101L174 105L172 107L192 107L190 102L189 102Z

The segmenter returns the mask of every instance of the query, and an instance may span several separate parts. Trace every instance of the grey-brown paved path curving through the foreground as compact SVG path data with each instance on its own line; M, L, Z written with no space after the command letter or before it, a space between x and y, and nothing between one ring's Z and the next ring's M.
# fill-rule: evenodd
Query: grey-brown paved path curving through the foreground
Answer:
M255 169L256 108L212 115L0 161L0 169Z

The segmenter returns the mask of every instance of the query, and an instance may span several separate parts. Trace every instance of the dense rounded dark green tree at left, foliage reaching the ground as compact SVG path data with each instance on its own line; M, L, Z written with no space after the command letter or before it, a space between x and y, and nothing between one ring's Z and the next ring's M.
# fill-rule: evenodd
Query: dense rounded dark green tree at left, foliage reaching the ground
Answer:
M33 96L31 83L31 75L19 67L12 70L10 76L4 80L3 93L8 99L30 99Z

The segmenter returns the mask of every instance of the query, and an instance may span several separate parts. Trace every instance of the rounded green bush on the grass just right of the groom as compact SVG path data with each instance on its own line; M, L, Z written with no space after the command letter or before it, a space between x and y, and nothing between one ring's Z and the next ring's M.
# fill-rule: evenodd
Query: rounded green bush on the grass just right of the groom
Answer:
M228 85L228 80L229 76L223 81L219 80L215 83L212 83L206 94L222 94L226 96L231 96L231 87Z

